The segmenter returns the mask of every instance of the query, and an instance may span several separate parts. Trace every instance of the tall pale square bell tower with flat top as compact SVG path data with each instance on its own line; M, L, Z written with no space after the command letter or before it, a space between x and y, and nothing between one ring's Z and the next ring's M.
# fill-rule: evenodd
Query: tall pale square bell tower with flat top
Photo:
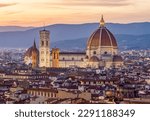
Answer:
M40 31L40 67L50 67L50 32Z

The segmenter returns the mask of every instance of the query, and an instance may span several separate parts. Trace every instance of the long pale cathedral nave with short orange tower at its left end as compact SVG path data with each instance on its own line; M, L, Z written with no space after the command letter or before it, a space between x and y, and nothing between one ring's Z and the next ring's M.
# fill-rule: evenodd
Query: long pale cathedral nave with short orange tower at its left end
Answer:
M68 67L85 67L85 52L63 52L59 48L52 49L51 67L68 68Z

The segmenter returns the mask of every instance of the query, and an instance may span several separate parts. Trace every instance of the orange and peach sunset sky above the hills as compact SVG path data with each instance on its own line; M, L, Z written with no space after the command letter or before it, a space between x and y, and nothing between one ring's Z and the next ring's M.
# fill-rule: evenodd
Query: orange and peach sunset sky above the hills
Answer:
M0 26L150 21L150 0L0 0Z

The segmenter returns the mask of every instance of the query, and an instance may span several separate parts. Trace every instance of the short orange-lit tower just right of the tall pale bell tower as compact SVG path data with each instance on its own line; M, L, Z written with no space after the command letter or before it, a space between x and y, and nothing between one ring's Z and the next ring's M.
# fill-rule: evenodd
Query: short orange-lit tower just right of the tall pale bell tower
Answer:
M59 49L52 49L52 67L59 68Z

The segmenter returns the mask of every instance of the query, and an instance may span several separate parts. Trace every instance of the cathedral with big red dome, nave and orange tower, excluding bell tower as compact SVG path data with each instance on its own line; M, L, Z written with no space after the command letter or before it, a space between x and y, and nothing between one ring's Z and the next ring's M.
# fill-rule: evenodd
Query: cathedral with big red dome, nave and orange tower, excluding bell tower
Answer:
M120 67L123 59L118 54L118 45L114 35L105 27L103 16L99 28L87 41L85 52L62 52L53 48L51 67Z

